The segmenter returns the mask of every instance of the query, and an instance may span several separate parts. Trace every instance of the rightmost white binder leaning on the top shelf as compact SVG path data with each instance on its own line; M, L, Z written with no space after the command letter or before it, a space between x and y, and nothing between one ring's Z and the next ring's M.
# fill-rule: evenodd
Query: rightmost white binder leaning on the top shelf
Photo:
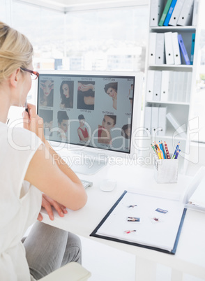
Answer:
M192 24L193 8L194 0L185 0L177 25L187 26Z

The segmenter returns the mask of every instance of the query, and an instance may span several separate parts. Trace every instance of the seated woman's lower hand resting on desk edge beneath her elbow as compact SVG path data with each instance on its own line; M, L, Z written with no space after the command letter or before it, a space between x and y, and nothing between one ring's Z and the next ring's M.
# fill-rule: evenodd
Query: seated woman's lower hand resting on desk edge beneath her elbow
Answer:
M67 214L67 210L66 207L61 205L60 203L54 201L53 199L51 199L49 196L43 194L42 196L42 207L45 208L45 210L47 210L47 214L49 215L51 220L54 220L54 214L52 211L52 206L56 209L56 211L59 213L60 217L64 217L64 214ZM43 216L40 214L38 214L38 220L41 222L43 219Z

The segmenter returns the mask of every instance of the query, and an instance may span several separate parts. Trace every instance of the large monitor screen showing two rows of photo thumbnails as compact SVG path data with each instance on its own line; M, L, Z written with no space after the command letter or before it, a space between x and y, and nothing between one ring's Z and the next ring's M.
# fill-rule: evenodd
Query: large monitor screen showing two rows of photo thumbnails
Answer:
M38 115L58 143L130 153L135 75L40 73Z

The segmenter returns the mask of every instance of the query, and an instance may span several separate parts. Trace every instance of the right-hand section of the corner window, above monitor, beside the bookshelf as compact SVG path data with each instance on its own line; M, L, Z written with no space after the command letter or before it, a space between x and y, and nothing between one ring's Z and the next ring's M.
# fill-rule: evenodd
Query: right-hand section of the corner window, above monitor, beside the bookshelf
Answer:
M148 22L146 6L67 13L67 67L144 71ZM73 65L73 59L79 64Z

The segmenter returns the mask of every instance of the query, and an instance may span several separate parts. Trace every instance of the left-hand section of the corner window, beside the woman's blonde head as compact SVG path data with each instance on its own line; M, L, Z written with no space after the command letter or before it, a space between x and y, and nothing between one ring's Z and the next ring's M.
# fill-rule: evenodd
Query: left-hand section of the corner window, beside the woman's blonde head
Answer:
M12 25L25 34L34 48L35 69L54 69L64 50L64 14L13 1Z

